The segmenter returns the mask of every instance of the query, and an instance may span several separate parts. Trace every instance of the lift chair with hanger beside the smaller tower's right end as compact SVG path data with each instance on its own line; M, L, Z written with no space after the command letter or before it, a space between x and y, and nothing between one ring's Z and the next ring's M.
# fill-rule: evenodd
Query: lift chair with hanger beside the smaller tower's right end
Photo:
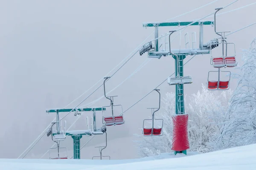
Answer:
M102 116L102 123L103 124L105 124L106 126L111 126L111 125L122 125L122 124L124 124L125 123L125 121L124 121L124 118L123 118L123 108L122 108L122 105L113 105L113 102L114 102L114 99L113 99L113 97L116 97L116 96L106 96L106 91L105 91L105 81L107 80L107 79L109 79L110 77L104 77L104 95L105 95L105 97L107 98L107 99L109 99L110 100L110 105L109 106L104 106L104 107L102 107L102 108L106 108L106 107L111 107L111 111L112 111L112 116L107 116L107 117L105 117L105 116ZM121 107L121 109L122 109L122 113L119 115L119 116L114 116L114 114L113 114L113 107L115 107L115 106L119 106L119 107ZM103 109L102 109L102 115L103 115Z

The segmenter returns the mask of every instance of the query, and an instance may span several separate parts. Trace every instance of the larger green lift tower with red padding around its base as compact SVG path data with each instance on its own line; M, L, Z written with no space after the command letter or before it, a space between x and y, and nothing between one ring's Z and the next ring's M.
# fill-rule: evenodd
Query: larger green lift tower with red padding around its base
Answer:
M170 36L175 31L169 31L169 39L167 36L159 37L159 27L166 26L198 26L200 28L199 48L195 48L196 34L192 33L192 48L189 46L189 34L185 34L185 49L172 49L170 45ZM154 27L155 40L154 42L148 42L140 48L140 55L148 52L149 58L160 59L162 56L172 56L175 59L175 77L168 77L168 84L175 85L175 116L173 120L173 143L172 150L175 155L177 153L186 154L186 150L189 149L189 139L187 132L188 115L185 114L184 109L184 84L192 83L192 77L183 75L183 60L188 55L196 54L210 54L210 50L218 46L218 39L213 39L203 43L203 27L214 26L214 21L198 21L198 22L165 22L165 23L143 23L143 27ZM166 38L167 37L167 38ZM167 39L167 41L166 41ZM162 42L162 43L160 43ZM167 45L167 48L166 48ZM188 46L188 48L187 48Z

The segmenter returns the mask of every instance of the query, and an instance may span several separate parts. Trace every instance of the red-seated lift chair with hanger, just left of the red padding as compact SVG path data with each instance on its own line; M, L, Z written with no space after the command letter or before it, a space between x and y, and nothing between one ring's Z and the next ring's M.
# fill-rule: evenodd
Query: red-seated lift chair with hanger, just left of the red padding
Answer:
M154 89L155 91L157 91L158 93L159 93L159 89ZM160 109L160 93L159 93L159 107L157 108L157 110L156 111L153 111L155 108L151 108L151 111L153 111L153 113L152 113L152 119L144 119L143 120L143 135L144 136L162 136L163 135L163 119L155 119L154 118L154 113L155 112L157 112L157 111L159 111L159 109ZM153 109L153 110L152 110ZM151 128L147 128L147 127L145 127L145 121L147 121L147 120L150 120L150 121L152 121L152 127ZM155 120L160 120L160 121L162 121L162 125L161 125L161 127L154 127L154 121Z

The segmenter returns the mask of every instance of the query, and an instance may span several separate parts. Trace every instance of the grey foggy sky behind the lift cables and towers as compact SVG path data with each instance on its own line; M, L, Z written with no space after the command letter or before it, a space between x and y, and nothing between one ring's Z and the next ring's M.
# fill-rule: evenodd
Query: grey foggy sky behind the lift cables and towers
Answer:
M2 123L0 127L2 133L0 157L17 158L54 118L54 115L46 115L45 109L62 108L69 104L104 77L145 40L153 29L143 28L143 22L167 20L209 2L211 0L180 0L175 3L169 0L158 2L153 0L1 0L0 106ZM226 6L231 2L233 0L219 0L173 21L201 18L214 12L215 8ZM220 13L253 2L254 0L239 0ZM217 30L232 32L254 23L254 17L250 17L255 16L254 9L255 5L217 17ZM213 20L213 17L204 20ZM171 29L177 29L177 27L160 28L160 34ZM184 48L184 34L186 32L191 34L192 31L197 31L197 40L199 40L199 27L191 26L182 33L181 47ZM204 28L204 42L216 37L213 27ZM255 26L228 37L229 42L236 43L239 65L242 65L241 49L249 48L253 37L255 37ZM153 35L147 41L152 39L154 39ZM172 48L179 48L179 40L178 36L172 42ZM220 48L216 49L214 54L220 55ZM190 57L188 56L185 61ZM147 59L146 54L143 56L136 54L107 82L107 92L128 77L145 59ZM208 71L214 70L209 62L209 55L198 55L185 66L184 75L189 74L193 79L191 85L185 85L185 94L197 92L201 89L201 83L207 82ZM115 103L122 104L125 110L173 71L174 59L172 57L152 59L110 95L118 95ZM232 68L230 71L236 70ZM236 81L232 80L230 87L234 90ZM165 97L166 92L174 92L175 87L169 86L166 82L160 86L160 90L162 97ZM78 104L90 92L92 90L70 106ZM102 95L103 88L100 88L82 105ZM157 93L148 95L125 113L125 125L108 128L109 147L108 150L106 149L106 154L115 159L135 157L133 134L141 133L138 128L141 128L143 119L150 116L150 111L146 108L156 107L157 99ZM103 105L108 105L107 99L101 99L93 106ZM99 114L97 118L99 123L97 123L100 125L102 113L97 114ZM86 113L72 129L86 128L85 117L91 115L91 113ZM68 127L75 119L76 117L72 114L67 116ZM81 140L82 144L87 139L84 136ZM103 139L104 136L96 136L87 149L91 148L92 154L81 158L90 158L93 154L98 154L98 150L93 147L95 144L104 142ZM30 158L32 153L35 155L44 153L52 144L51 139L44 136L26 158ZM64 145L70 150L69 155L72 155L72 140L68 139ZM122 150L123 146L125 149ZM10 150L10 147L13 149ZM129 150L129 147L133 149ZM125 154L119 156L117 150ZM86 153L84 149L82 154ZM45 158L48 158L48 154Z

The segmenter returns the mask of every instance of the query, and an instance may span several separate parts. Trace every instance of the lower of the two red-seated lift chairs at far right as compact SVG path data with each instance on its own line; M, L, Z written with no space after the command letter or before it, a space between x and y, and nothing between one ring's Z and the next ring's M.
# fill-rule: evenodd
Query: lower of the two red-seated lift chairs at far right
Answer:
M212 73L218 73L218 80L209 80L209 74ZM227 81L220 80L220 72L226 72L229 73L229 79ZM207 88L208 90L228 90L229 89L229 83L230 83L230 71L221 71L220 68L218 71L209 71L208 72L208 79L207 79Z

